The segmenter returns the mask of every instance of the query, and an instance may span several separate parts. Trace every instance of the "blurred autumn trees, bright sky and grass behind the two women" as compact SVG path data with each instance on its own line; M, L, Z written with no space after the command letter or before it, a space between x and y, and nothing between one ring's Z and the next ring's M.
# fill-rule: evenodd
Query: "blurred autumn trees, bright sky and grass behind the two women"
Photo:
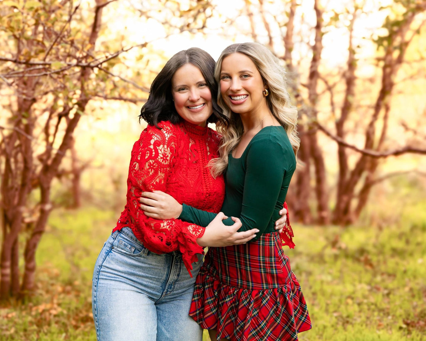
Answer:
M181 49L244 41L299 109L300 340L424 339L425 23L423 0L1 0L0 339L96 339L92 269L150 83Z

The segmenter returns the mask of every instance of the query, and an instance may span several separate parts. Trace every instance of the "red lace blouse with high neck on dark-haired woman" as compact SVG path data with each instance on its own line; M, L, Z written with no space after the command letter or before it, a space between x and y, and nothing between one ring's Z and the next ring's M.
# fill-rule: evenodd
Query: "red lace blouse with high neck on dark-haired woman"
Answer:
M218 213L225 197L223 176L216 179L206 167L218 156L220 135L206 127L162 121L161 129L148 126L135 142L127 179L127 204L117 226L132 229L144 246L155 253L180 251L188 269L203 248L196 243L205 228L179 219L158 220L138 209L143 191L163 191L178 202Z

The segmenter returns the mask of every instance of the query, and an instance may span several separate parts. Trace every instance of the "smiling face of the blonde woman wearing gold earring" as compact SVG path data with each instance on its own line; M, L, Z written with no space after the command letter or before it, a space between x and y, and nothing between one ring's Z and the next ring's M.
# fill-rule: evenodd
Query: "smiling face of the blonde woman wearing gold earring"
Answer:
M253 61L235 52L223 58L220 69L220 92L234 113L249 113L266 104L262 76Z

